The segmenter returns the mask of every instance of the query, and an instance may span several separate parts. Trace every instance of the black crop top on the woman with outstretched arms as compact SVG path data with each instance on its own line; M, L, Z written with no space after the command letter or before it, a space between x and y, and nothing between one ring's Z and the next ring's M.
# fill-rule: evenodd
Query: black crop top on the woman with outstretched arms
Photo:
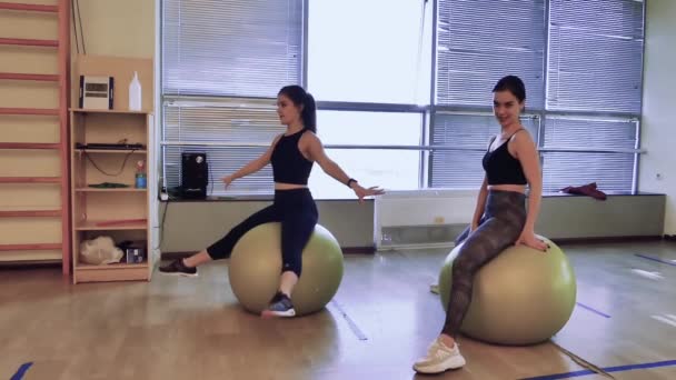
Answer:
M305 131L282 134L277 141L270 159L275 182L308 184L314 162L306 159L298 149L298 141Z

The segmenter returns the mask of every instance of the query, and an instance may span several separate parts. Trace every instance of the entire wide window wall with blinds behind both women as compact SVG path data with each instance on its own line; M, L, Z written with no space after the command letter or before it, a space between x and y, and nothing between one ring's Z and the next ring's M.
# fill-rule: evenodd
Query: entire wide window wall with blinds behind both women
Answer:
M163 179L178 187L181 153L207 152L222 194L219 179L284 131L278 90L301 84L327 153L362 184L476 189L499 131L493 86L516 74L545 191L633 190L643 13L637 0L162 0ZM354 197L318 166L310 186ZM271 192L269 167L229 191Z

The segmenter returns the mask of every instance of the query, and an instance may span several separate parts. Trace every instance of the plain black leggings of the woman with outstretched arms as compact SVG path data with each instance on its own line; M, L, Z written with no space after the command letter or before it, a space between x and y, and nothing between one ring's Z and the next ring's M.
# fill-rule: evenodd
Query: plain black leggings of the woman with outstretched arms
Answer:
M309 189L275 190L271 206L254 213L207 248L213 260L227 259L237 241L252 228L281 222L281 272L292 271L300 277L302 249L310 240L317 219L317 206Z

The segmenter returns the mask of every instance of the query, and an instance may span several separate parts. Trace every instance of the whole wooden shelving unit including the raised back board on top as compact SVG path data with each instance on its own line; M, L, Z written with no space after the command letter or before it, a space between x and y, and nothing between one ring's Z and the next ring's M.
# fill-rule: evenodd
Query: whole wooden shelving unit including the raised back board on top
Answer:
M137 71L143 91L152 91L152 61L80 56L77 71L78 78L80 74L113 77L118 90L115 92L112 110L70 110L73 283L150 281L157 263L150 244L151 198L147 188L135 187L137 162L143 161L148 172L151 162L150 149L106 150L77 147L87 143L116 143L121 140L151 147L151 112L125 110L128 106L125 89L133 71ZM145 98L143 101L145 107L152 108L151 100L146 102ZM105 182L127 187L100 187ZM127 256L123 254L117 263L86 263L81 257L80 244L97 237L110 237L116 244L132 241L136 246L142 246L145 259L140 263L127 262Z

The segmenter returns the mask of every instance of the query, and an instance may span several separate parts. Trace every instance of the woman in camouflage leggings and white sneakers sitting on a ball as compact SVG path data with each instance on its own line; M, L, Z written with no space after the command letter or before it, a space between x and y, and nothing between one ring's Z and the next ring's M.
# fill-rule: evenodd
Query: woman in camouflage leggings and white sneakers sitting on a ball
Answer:
M535 221L541 198L541 174L535 143L520 123L526 100L524 82L514 76L500 79L494 92L494 113L501 131L494 137L483 159L486 176L471 224L458 237L463 243L453 266L453 284L446 322L427 357L414 368L438 373L465 366L455 339L471 301L475 273L510 244L526 244L545 251L535 237ZM529 194L526 197L526 186ZM528 199L528 211L526 211Z

